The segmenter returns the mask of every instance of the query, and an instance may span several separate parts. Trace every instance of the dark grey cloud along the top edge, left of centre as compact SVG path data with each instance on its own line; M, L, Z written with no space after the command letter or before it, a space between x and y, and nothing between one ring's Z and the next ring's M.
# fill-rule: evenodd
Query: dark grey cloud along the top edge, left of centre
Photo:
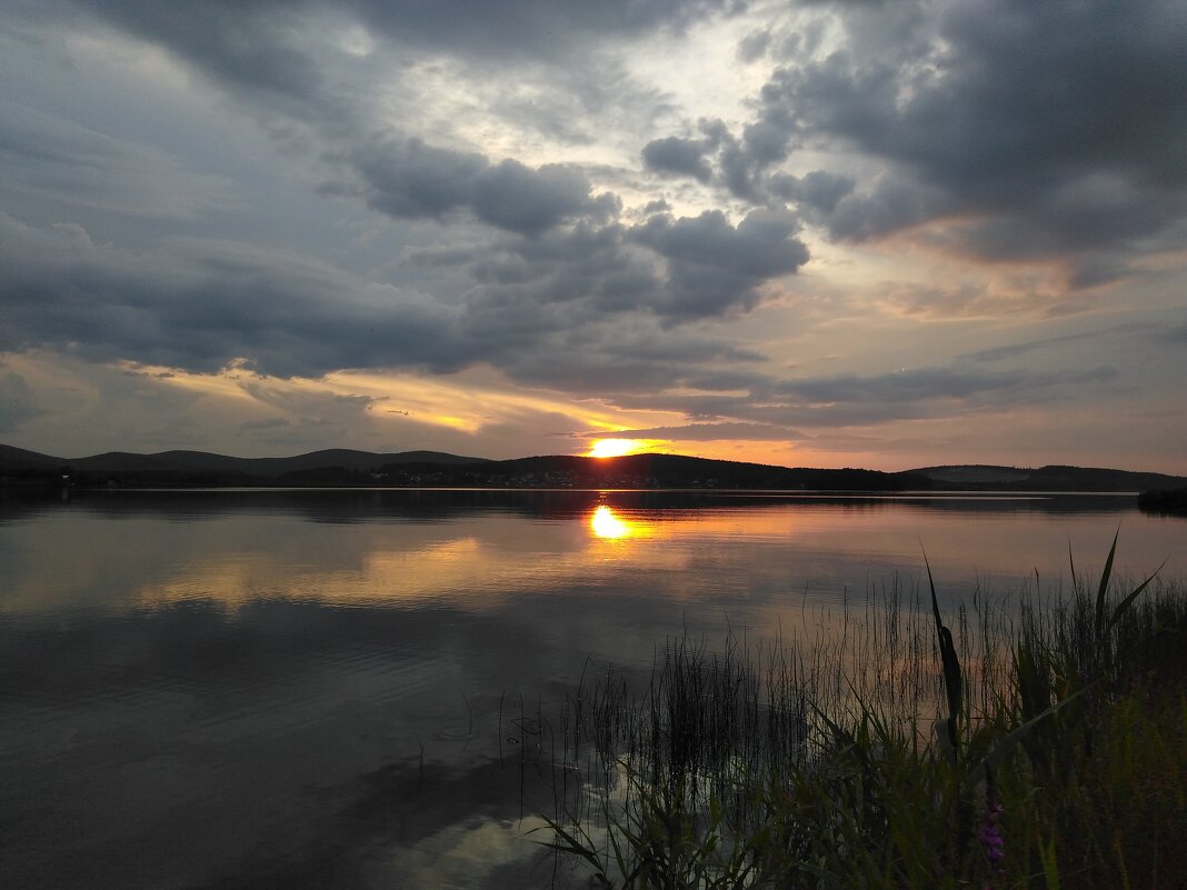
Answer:
M572 66L582 51L604 40L679 32L729 7L725 0L49 0L49 5L83 9L167 46L240 90L298 102L320 96L326 87L307 37L328 21L362 24L374 38L402 51Z

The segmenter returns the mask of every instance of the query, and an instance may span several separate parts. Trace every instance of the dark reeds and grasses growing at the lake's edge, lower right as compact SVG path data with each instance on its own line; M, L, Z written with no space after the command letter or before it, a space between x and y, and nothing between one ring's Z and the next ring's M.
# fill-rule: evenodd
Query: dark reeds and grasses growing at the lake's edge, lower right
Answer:
M891 586L812 646L686 634L583 682L546 845L623 890L1187 886L1187 590L1112 557L956 632Z

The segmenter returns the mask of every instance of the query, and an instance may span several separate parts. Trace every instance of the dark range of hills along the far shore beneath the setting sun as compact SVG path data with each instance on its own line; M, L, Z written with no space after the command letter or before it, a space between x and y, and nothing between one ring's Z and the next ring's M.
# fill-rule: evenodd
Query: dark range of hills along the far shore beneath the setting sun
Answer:
M491 488L693 488L813 491L929 489L1145 491L1187 488L1187 478L1079 466L956 465L907 472L770 466L681 454L590 458L572 454L487 460L439 451L373 453L348 449L294 457L228 457L203 451L135 454L112 451L61 458L0 445L0 484L89 488L234 485L404 485Z

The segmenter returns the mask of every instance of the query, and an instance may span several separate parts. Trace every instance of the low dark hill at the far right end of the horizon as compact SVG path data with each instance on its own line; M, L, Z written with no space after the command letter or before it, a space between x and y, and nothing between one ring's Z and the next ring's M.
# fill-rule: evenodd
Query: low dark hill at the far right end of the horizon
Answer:
M959 491L1148 491L1187 487L1187 477L1161 472L1130 472L1096 466L991 466L969 464L923 466L910 472L926 476L933 488Z

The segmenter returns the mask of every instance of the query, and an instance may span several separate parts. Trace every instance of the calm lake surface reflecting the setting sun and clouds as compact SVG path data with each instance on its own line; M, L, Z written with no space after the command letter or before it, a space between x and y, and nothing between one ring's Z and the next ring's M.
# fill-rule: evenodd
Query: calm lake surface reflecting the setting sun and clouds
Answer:
M112 492L0 501L6 888L548 886L535 718L588 656L950 604L1118 568L1187 576L1132 498ZM534 835L539 838L540 835ZM565 883L561 875L560 884Z

